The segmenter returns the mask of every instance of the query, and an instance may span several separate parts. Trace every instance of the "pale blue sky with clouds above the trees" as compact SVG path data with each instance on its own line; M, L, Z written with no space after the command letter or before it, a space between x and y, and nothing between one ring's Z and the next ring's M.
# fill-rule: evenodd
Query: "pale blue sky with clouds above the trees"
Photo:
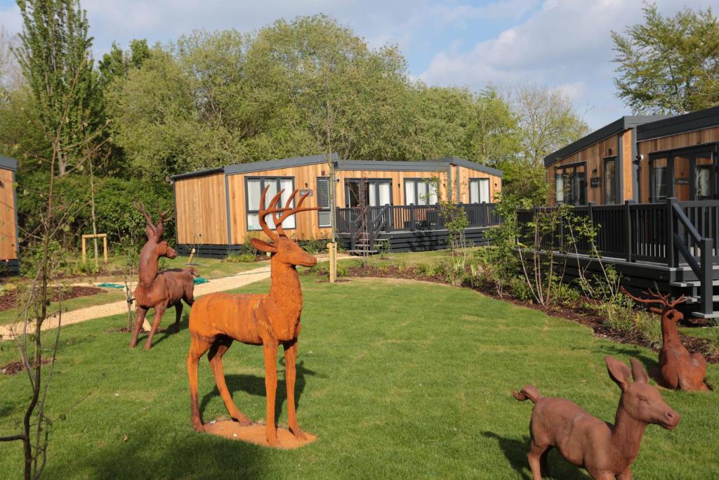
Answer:
M81 0L95 58L112 42L169 42L193 30L251 32L276 19L324 13L371 47L395 44L408 71L429 85L537 83L562 89L592 130L631 114L615 96L610 31L641 23L639 0ZM665 16L719 0L656 0ZM13 0L0 0L0 24L19 32Z

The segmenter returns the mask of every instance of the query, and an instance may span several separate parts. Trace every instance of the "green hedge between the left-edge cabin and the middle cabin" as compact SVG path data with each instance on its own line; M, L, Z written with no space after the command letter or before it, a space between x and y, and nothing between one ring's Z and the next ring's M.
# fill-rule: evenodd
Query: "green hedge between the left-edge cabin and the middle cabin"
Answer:
M37 205L42 204L47 195L47 181L47 176L42 173L18 177L19 224L27 232L36 231L40 225ZM148 212L155 216L158 209L165 210L172 203L172 189L166 184L121 178L96 178L95 183L97 230L108 234L109 243L129 241L130 238L136 245L145 243L145 219L132 206L134 199L142 201ZM81 235L89 233L92 225L88 179L79 175L57 178L55 194L58 203L68 212L58 240L65 248L76 248ZM174 237L175 225L170 218L165 222L165 238Z

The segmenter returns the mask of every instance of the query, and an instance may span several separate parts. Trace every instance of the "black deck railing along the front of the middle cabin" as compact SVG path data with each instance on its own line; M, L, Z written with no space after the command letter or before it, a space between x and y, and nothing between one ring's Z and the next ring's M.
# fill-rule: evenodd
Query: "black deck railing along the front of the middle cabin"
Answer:
M457 204L467 213L469 227L490 227L500 224L495 204ZM337 209L336 228L339 233L357 230L362 214L358 208ZM367 207L367 224L381 225L381 232L415 232L444 230L446 218L441 205L385 205Z

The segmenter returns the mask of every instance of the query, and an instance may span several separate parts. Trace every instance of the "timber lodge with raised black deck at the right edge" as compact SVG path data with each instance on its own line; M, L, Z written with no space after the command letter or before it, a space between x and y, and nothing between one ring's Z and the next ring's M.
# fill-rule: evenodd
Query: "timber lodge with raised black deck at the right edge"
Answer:
M602 261L622 274L628 289L685 294L692 314L716 318L718 153L719 107L622 117L545 158L549 204L570 204L573 214L590 219ZM519 212L520 222L533 213ZM565 275L598 271L590 245L567 251L564 235L542 241L568 261Z

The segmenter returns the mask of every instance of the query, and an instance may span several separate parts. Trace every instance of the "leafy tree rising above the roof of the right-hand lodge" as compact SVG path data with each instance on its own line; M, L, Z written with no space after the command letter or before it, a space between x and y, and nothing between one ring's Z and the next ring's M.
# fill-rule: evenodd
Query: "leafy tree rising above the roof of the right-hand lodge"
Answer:
M612 32L617 96L636 113L685 113L719 104L719 23L712 10L662 17L644 6L644 23Z

